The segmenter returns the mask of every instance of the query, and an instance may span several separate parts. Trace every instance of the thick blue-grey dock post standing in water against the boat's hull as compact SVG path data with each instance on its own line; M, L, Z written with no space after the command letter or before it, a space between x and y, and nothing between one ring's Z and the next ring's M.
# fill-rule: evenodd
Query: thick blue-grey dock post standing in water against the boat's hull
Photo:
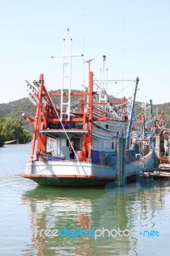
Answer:
M118 159L116 169L116 182L118 186L125 186L125 138L118 137Z

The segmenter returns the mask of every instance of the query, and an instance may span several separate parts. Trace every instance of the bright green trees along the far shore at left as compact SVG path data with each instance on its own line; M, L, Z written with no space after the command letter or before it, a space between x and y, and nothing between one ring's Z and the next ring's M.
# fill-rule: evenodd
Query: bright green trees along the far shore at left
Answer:
M20 118L1 117L0 118L0 146L5 141L16 140L17 143L23 144L31 140L31 134L24 128Z

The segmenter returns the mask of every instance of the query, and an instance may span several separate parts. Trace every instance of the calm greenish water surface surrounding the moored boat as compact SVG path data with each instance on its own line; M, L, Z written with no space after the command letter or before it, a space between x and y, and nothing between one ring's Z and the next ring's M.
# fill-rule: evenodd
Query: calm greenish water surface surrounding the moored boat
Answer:
M170 255L169 181L125 188L41 187L20 178L30 147L0 148L0 255ZM70 236L64 237L65 230L63 236L42 231L63 228ZM104 236L98 230L100 237L75 238L75 230L92 235L102 228ZM127 230L125 236L116 236L118 228Z

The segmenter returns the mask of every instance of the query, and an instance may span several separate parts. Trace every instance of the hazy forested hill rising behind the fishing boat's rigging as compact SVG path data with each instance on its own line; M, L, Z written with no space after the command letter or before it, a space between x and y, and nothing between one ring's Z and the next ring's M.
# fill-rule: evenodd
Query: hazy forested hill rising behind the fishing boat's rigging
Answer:
M56 92L59 92L56 91ZM75 90L73 90L75 92ZM77 92L77 91L76 91ZM79 91L81 92L81 91ZM74 98L75 100L75 98ZM118 99L114 99L117 101ZM79 97L77 97L77 101L79 101ZM59 102L55 102L55 104L59 104ZM141 113L141 107L139 107L139 104L141 102L135 103L135 113L136 116L138 116ZM164 112L164 115L166 116L167 121L167 128L170 127L170 102L164 103L164 104L158 104L154 105L156 111L158 112L158 115ZM9 103L3 103L0 104L0 117L17 117L20 118L23 121L24 126L26 129L30 132L33 131L33 124L29 124L24 122L24 118L22 117L22 113L27 113L29 115L35 116L36 106L33 105L33 103L28 98L23 98L19 100L15 100Z

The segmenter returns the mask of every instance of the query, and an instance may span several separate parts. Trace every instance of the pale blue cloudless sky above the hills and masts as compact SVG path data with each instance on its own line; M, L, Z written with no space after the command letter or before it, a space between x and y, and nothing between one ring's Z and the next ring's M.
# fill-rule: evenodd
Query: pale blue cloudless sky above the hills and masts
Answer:
M0 0L0 103L27 97L25 79L41 73L49 90L61 88L61 59L51 56L62 54L67 28L72 54L84 54L72 58L73 89L88 84L84 60L93 59L95 79L101 68L108 79L138 76L136 100L170 102L169 13L169 0ZM108 93L132 97L130 84L108 84Z

